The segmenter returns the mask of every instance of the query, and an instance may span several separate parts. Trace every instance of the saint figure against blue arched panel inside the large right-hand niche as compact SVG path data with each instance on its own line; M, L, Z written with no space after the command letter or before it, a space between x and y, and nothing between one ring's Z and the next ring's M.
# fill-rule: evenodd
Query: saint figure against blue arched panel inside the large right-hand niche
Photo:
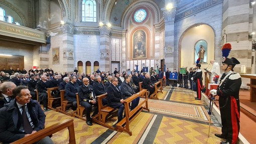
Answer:
M200 57L199 63L207 63L207 42L205 40L197 41L194 50L194 62L196 63L197 59Z

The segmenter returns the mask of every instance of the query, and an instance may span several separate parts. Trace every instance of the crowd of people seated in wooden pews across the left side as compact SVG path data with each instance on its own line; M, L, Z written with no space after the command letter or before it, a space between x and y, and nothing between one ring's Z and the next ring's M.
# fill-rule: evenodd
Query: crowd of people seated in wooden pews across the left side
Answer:
M4 71L1 75L8 77ZM76 72L62 75L53 71L26 74L16 71L14 77L6 78L0 85L0 119L3 121L0 141L53 143L52 134L67 127L69 142L75 143L73 120L45 128L44 112L48 109L78 117L88 126L98 123L132 135L131 121L143 109L149 111L148 98L157 98L157 93L163 89L162 79L154 85L149 73L145 73L145 77L144 73L138 75L135 71L129 75L126 72L94 72L87 76ZM111 117L117 117L113 124L106 122Z

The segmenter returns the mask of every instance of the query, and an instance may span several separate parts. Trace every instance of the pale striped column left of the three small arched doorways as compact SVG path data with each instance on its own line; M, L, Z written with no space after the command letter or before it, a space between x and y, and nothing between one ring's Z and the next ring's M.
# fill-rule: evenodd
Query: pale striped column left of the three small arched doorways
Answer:
M61 61L60 68L63 72L72 72L76 66L74 66L74 31L75 27L71 24L65 23L59 27L62 31L62 35L60 36L60 53L63 55L65 53L65 57Z

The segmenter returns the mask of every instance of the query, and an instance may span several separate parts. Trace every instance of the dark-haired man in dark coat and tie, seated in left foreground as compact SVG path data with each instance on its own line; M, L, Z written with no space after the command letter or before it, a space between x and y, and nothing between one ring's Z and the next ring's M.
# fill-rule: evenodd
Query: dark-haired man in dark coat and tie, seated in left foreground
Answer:
M38 102L31 99L28 87L18 86L13 94L16 99L0 109L0 139L4 143L29 136L45 126L46 115ZM35 143L52 144L53 141L46 136Z

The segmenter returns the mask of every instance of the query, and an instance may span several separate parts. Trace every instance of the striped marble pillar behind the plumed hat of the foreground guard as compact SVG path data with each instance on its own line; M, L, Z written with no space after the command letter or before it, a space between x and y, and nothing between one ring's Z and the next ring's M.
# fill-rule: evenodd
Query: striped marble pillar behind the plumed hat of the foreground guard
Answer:
M226 34L226 43L232 45L229 57L235 57L241 64L234 67L240 72L241 65L245 65L247 73L251 73L251 29L249 0L223 1L222 31ZM251 12L250 12L251 11Z

